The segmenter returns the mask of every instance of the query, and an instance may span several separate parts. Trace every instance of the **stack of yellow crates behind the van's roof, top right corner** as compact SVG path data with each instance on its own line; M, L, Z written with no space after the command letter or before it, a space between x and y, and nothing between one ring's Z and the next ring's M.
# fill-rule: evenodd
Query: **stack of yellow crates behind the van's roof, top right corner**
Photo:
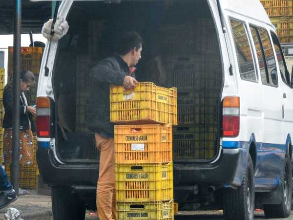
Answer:
M260 0L281 43L293 42L293 0Z

